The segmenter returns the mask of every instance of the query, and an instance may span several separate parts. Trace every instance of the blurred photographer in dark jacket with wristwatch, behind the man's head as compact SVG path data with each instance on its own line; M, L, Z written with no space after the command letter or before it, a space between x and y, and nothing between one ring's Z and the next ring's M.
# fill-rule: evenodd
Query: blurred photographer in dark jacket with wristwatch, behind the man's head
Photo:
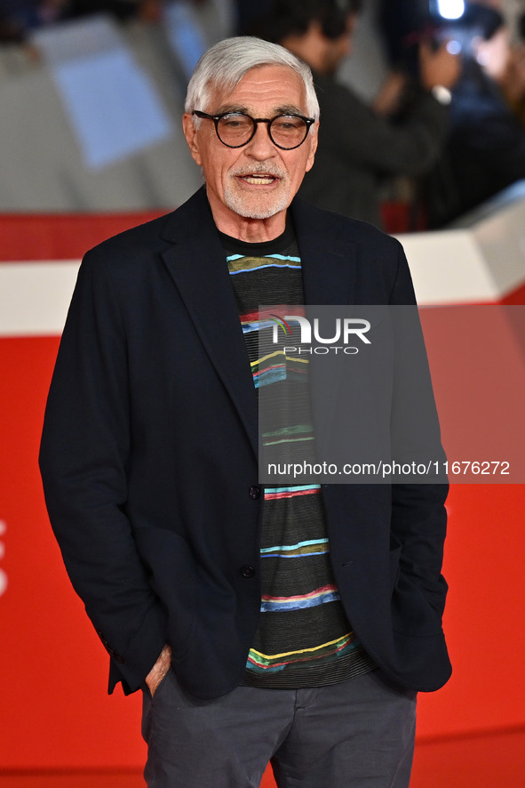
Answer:
M418 90L394 123L388 116L399 106L403 79L395 77L370 107L336 78L339 64L352 52L361 8L360 0L275 0L255 32L285 46L314 72L322 125L301 197L381 227L383 179L425 173L440 154L448 130L449 88L459 66L445 44L437 51L421 44Z

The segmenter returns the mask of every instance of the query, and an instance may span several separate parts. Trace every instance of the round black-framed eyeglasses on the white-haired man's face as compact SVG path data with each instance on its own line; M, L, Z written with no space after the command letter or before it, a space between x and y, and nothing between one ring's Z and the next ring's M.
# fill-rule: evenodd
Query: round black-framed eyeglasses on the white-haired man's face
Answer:
M244 112L223 112L221 115L208 115L200 109L194 115L212 120L215 131L223 145L228 148L243 148L248 145L257 131L258 123L266 123L270 140L282 150L293 150L306 140L314 117L302 115L278 115L277 117L251 117Z

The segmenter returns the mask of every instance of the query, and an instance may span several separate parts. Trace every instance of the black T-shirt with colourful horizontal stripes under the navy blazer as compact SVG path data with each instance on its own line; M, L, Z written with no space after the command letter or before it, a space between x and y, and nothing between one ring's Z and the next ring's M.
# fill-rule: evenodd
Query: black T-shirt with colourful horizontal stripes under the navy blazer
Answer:
M276 322L278 332L286 339L290 335L291 345L298 332L293 321L276 317L300 314L302 309L295 240L288 236L274 248L276 242L243 245L223 237L223 243L255 389L259 394L262 387L279 387L277 397L288 403L275 422L265 422L263 445L284 456L294 446L294 452L300 448L312 458L308 360L286 354L272 342ZM260 303L294 306L291 312L274 307L266 314L259 313ZM266 487L260 572L259 627L243 684L308 687L370 670L373 665L355 639L333 581L319 485Z

